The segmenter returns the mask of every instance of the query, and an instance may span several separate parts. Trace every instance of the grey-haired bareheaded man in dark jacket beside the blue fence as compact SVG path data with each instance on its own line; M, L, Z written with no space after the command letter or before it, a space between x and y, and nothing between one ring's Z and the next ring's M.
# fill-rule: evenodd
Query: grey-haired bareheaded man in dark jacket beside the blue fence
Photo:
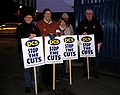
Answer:
M85 12L85 18L79 24L79 30L77 31L78 35L86 35L86 34L94 34L95 37L95 50L96 50L96 57L99 53L99 49L102 45L103 39L103 30L102 27L97 19L94 18L94 13L92 9L87 9ZM90 65L93 71L93 77L99 78L97 73L97 60L96 58L89 58ZM83 63L84 66L84 75L87 75L87 66L86 62Z

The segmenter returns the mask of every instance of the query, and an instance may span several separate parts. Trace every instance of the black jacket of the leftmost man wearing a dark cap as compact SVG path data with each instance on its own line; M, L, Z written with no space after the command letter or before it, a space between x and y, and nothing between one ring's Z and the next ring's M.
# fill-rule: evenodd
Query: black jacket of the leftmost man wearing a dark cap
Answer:
M28 38L30 36L30 33L36 34L36 36L41 36L39 28L33 23L27 24L23 22L17 27L15 37L18 43L19 53L22 53L21 38Z

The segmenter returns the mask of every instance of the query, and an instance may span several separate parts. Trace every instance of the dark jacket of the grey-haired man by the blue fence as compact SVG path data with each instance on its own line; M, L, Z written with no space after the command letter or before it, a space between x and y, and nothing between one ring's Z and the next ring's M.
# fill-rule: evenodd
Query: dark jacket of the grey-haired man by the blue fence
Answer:
M82 20L79 24L77 35L82 35L84 32L87 34L94 34L95 44L103 42L103 30L97 19L93 18L92 21L88 21L85 18Z

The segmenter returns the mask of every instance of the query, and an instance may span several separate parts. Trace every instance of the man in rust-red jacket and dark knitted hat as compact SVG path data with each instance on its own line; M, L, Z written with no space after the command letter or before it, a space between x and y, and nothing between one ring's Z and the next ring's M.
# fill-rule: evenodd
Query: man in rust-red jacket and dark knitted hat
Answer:
M37 26L41 30L42 36L49 35L50 38L54 39L57 23L51 19L52 11L49 8L43 10L43 20L38 21ZM44 39L43 39L44 40ZM48 86L52 83L52 65L44 65L42 67L43 83Z

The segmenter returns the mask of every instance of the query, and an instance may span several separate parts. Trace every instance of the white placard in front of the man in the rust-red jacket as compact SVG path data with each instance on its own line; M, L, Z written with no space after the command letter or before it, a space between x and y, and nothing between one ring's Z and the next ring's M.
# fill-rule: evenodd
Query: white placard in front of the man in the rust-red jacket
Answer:
M63 63L63 39L45 37L45 64Z

